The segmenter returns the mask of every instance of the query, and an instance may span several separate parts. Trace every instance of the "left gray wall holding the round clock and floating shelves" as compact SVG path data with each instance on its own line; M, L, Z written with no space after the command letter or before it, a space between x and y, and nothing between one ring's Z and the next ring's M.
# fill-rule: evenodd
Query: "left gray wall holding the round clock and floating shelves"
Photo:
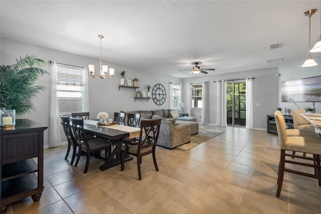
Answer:
M96 69L99 66L99 52L97 52L97 59L92 59L72 53L57 51L48 49L36 45L31 45L23 42L18 42L6 38L0 38L1 45L1 64L13 64L20 56L36 55L41 59L55 60L60 63L66 63L78 66L88 66L88 64L94 64ZM146 90L146 85L155 85L156 83L162 83L169 94L170 82L181 83L180 78L175 78L158 73L150 73L137 68L128 67L125 65L114 64L111 62L104 62L109 68L115 68L115 75L113 79L89 79L89 109L90 118L95 119L99 112L107 112L110 116L113 116L114 112L120 110L157 110L157 109L169 109L170 101L169 95L165 103L161 106L156 105L151 99L136 100L134 102L134 90L130 88L121 88L118 90L120 83L121 71L125 71L125 78L139 79L138 86L141 90ZM43 67L48 72L51 72L51 66L48 64ZM96 71L97 72L97 71ZM38 94L34 99L34 105L36 112L30 114L17 116L19 118L28 118L34 120L40 124L49 126L50 115L50 96L51 96L51 76L43 76L36 82L37 85L44 85L47 90ZM63 136L63 135L62 135ZM64 136L63 136L64 137ZM63 141L65 139L63 138ZM45 145L49 142L49 131L45 131Z

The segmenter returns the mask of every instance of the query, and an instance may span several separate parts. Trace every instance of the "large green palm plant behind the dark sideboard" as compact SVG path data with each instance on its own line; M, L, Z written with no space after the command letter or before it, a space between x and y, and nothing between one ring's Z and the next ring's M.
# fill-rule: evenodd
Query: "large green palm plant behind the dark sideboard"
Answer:
M40 68L46 64L36 56L27 55L13 65L0 65L0 107L16 110L18 115L35 111L33 98L46 87L34 84L40 75L49 74Z

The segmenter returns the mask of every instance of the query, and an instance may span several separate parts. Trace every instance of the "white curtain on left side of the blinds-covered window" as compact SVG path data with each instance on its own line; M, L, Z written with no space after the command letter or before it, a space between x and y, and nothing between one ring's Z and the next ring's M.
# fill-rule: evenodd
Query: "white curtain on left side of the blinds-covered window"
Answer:
M57 97L57 65L54 61L51 66L51 103L49 124L49 147L57 147L62 144L60 136L60 117Z

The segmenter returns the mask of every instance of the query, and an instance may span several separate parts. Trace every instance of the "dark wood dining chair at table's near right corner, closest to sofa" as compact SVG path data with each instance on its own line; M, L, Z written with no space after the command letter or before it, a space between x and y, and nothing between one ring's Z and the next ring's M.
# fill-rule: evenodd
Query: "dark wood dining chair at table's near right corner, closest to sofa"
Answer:
M152 154L152 160L156 171L158 171L158 166L156 162L156 143L159 135L159 128L161 127L162 119L156 120L142 120L140 122L140 134L139 141L123 141L125 144L121 147L121 171L125 167L125 154L135 156L137 158L137 169L138 169L138 179L141 180L140 164L141 159L145 155Z

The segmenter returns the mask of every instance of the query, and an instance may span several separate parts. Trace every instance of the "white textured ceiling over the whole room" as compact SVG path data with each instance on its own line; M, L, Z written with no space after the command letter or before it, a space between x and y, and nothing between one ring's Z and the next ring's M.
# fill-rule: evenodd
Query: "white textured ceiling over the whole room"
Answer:
M103 60L187 78L303 63L313 8L313 46L321 1L1 1L1 37L99 59L101 34Z

